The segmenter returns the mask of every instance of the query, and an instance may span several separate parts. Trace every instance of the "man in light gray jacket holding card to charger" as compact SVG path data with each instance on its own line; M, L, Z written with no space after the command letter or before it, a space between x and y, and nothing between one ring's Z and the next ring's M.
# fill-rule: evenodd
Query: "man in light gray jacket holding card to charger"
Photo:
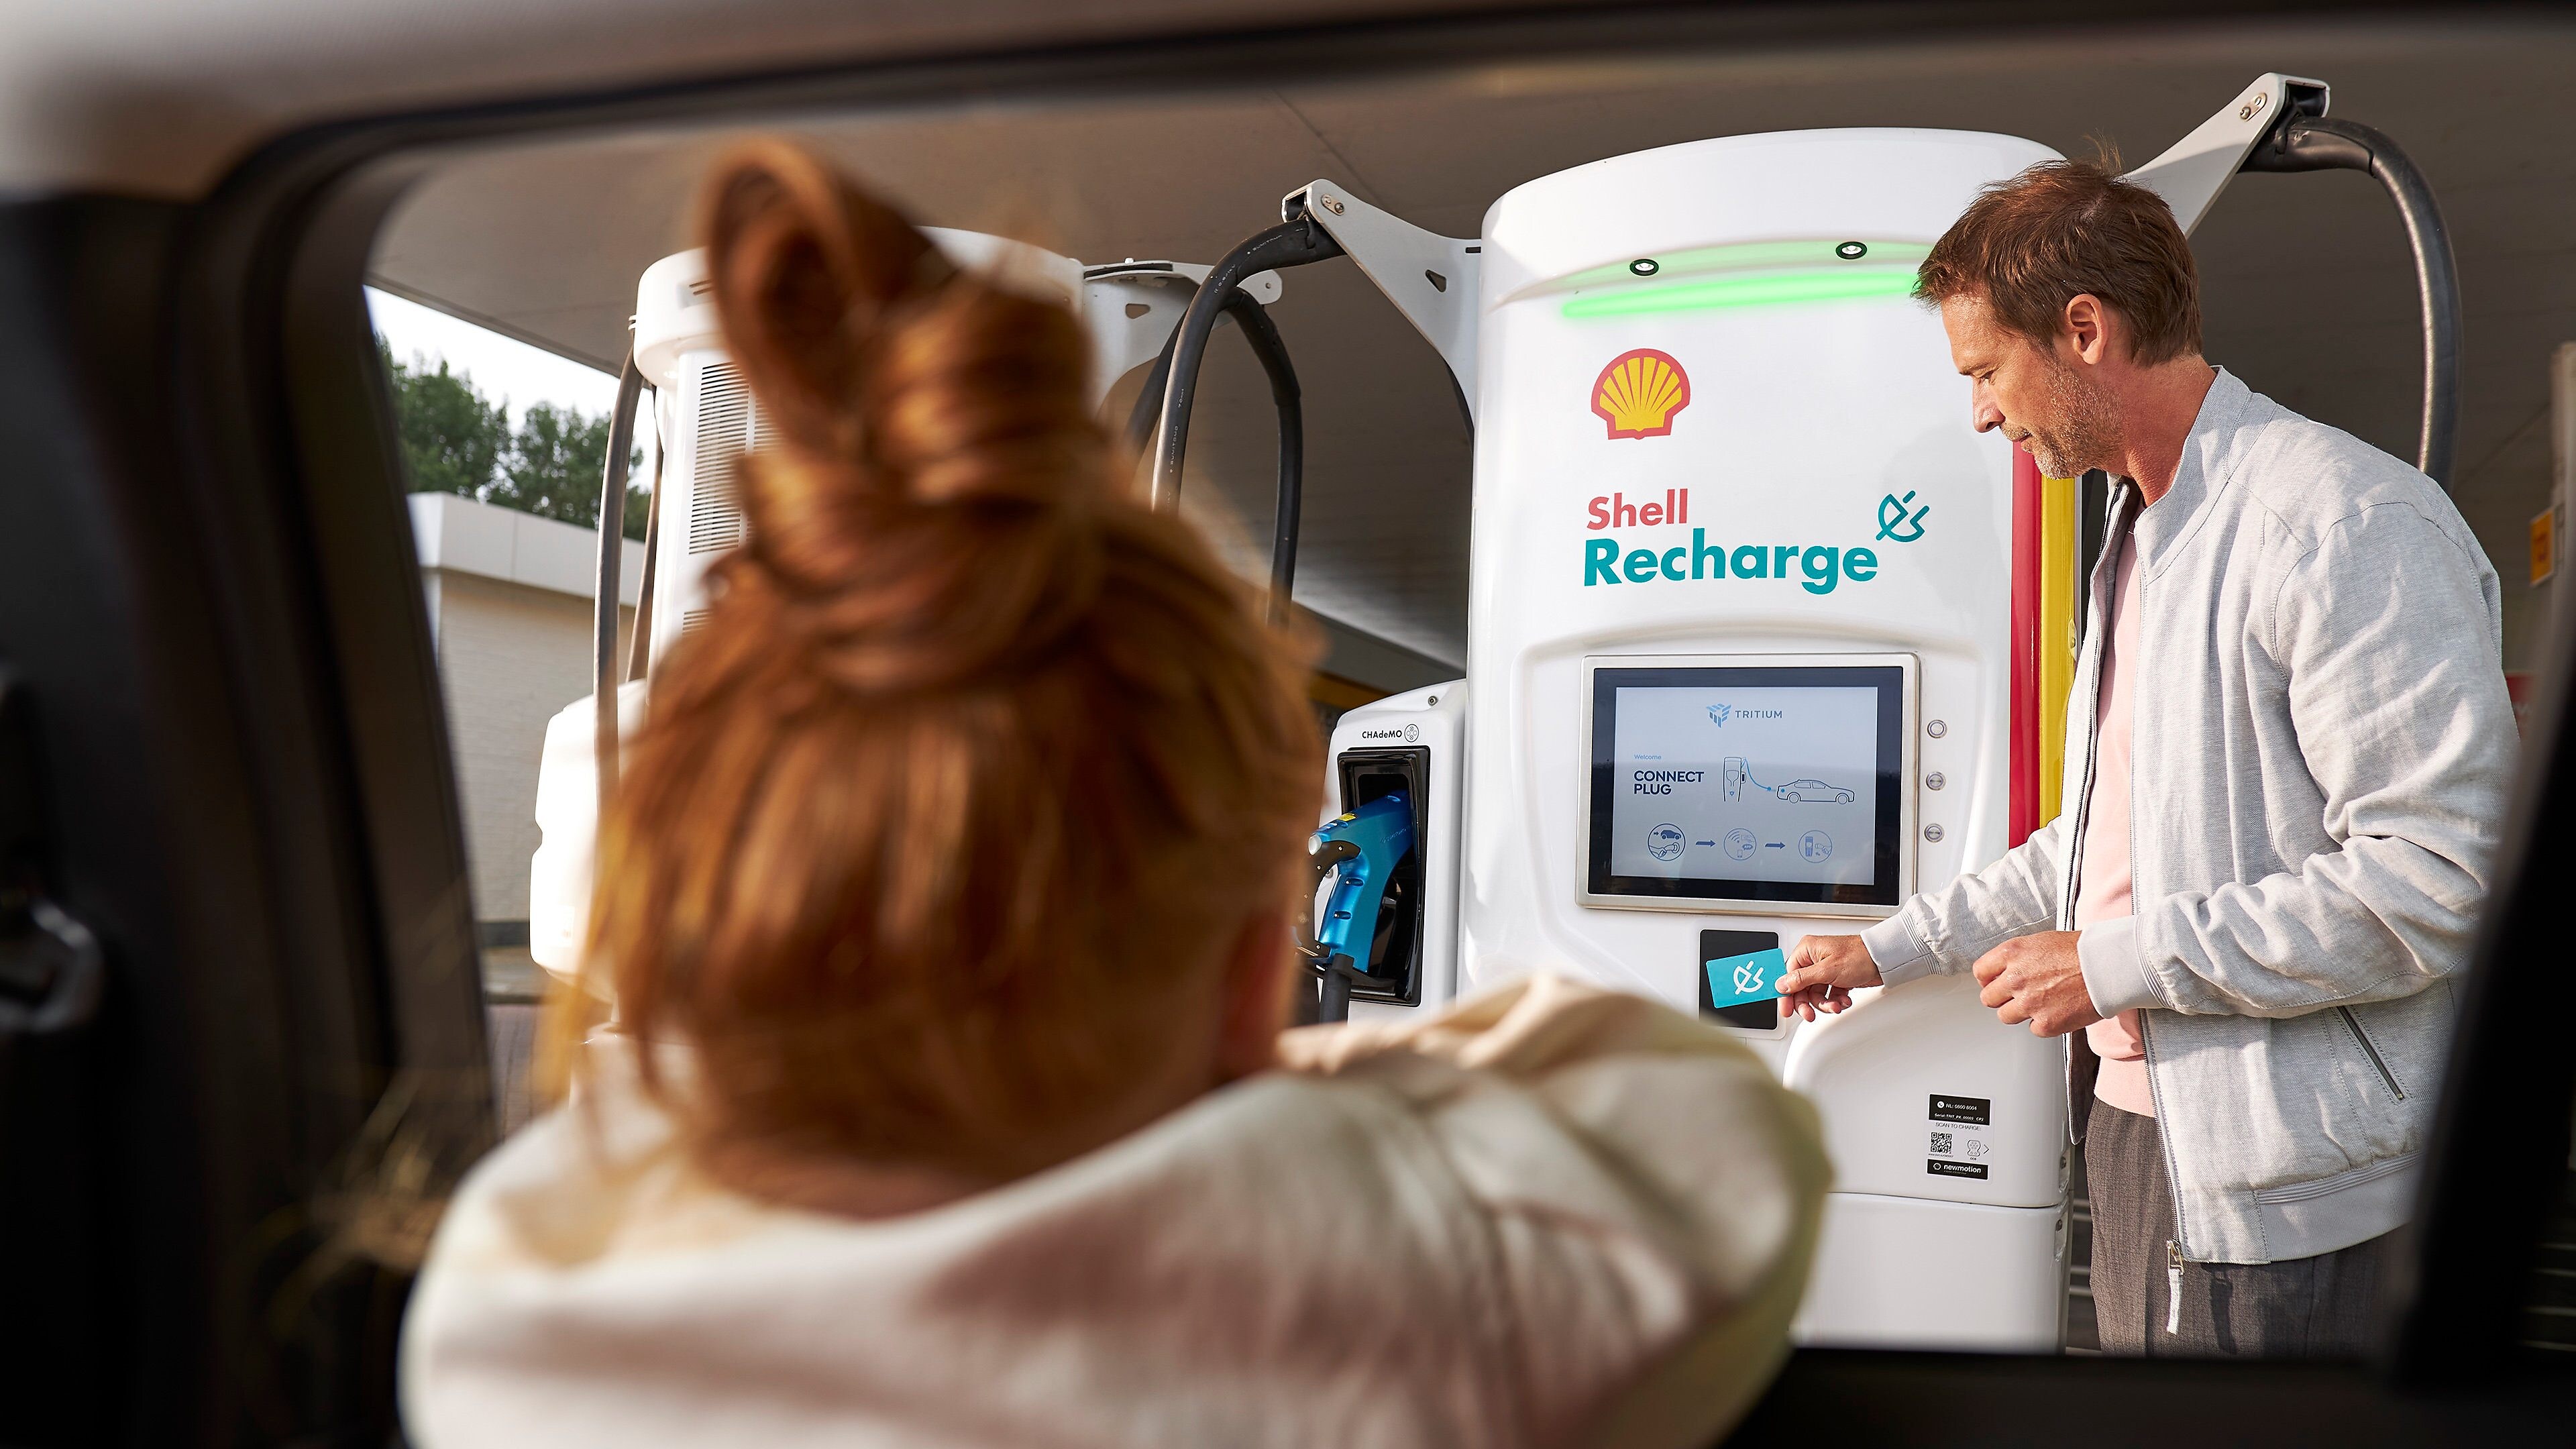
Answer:
M2069 1036L2115 1354L2360 1354L2442 1078L2514 724L2496 575L2411 467L2200 356L2190 245L2089 162L1932 248L1976 431L2117 485L2066 810L1780 977L1976 972Z

